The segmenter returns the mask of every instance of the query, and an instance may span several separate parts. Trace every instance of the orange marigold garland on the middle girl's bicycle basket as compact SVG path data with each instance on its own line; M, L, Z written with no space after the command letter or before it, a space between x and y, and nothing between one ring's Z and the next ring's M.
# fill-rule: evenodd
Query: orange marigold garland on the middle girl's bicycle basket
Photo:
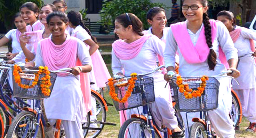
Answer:
M135 81L137 80L137 73L132 73L131 78L128 80L128 88L127 91L125 92L125 95L122 99L119 99L117 97L117 94L115 92L115 86L113 82L113 78L108 79L108 86L109 86L109 95L111 96L112 99L115 101L118 101L119 103L125 103L128 98L131 96L131 93L133 91L133 88L135 87ZM122 87L122 86L121 86Z

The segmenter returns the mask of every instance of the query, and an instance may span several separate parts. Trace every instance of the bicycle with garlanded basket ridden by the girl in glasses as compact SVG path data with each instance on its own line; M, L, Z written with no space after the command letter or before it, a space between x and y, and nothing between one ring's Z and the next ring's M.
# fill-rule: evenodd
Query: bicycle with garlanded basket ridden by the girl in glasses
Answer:
M212 130L210 126L210 120L208 119L207 111L212 111L218 107L218 93L219 93L219 85L220 83L215 77L220 77L225 74L232 73L232 71L228 70L222 72L216 76L207 76L205 82L205 88L201 92L201 95L198 97L190 97L186 98L182 92L179 92L179 86L177 85L177 76L174 75L173 72L170 77L171 80L168 83L173 87L175 101L176 101L176 109L178 112L200 112L200 118L193 118L193 125L189 130L190 138L210 138L212 137ZM229 77L229 76L227 76ZM197 90L203 83L201 81L202 76L194 76L194 77L181 77L183 82L188 83L189 89ZM232 77L231 77L232 78ZM186 113L186 118L187 118ZM187 120L188 125L188 120Z

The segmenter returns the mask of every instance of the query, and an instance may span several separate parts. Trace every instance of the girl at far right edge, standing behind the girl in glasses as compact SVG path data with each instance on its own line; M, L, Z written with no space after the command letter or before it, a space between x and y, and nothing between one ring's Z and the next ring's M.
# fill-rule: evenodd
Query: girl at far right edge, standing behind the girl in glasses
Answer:
M230 36L238 50L238 56L254 52L255 46L253 40L256 40L256 33L250 29L236 25L234 15L230 11L220 11L217 19L226 25ZM246 131L256 132L256 64L251 57L240 58L237 69L241 71L241 76L236 80L240 85L233 83L233 89L236 91L241 104L243 116L250 121L250 126Z

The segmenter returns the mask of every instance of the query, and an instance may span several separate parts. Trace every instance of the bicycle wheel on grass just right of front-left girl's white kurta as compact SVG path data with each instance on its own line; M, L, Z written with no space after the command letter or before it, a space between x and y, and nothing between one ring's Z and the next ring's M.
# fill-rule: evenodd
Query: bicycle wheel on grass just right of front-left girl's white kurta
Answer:
M106 122L106 116L107 116L106 115L106 107L104 106L103 101L101 100L101 98L98 95L96 95L93 92L91 92L91 93L92 93L92 97L95 98L95 100L96 100L97 121L99 121L100 123L104 123L104 122ZM94 123L94 122L90 121L90 124L91 123ZM86 134L87 138L96 138L100 134L102 129L104 128L104 124L99 124L99 123L96 123L96 124L97 124L97 127L100 128L100 130L89 132L89 130L90 130L89 129Z

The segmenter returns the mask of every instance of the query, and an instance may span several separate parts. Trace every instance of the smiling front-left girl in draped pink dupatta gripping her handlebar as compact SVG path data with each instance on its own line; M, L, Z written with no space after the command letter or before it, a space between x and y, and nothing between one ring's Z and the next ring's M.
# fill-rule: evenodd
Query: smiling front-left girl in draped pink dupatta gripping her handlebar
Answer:
M74 75L90 72L92 61L83 41L65 33L68 17L62 12L52 12L47 16L50 38L38 43L36 66L47 66L49 70L71 68ZM76 66L80 60L82 66ZM47 118L52 122L61 119L67 138L83 138L82 122L85 120L83 94L80 79L66 74L58 74L50 98L44 99Z

